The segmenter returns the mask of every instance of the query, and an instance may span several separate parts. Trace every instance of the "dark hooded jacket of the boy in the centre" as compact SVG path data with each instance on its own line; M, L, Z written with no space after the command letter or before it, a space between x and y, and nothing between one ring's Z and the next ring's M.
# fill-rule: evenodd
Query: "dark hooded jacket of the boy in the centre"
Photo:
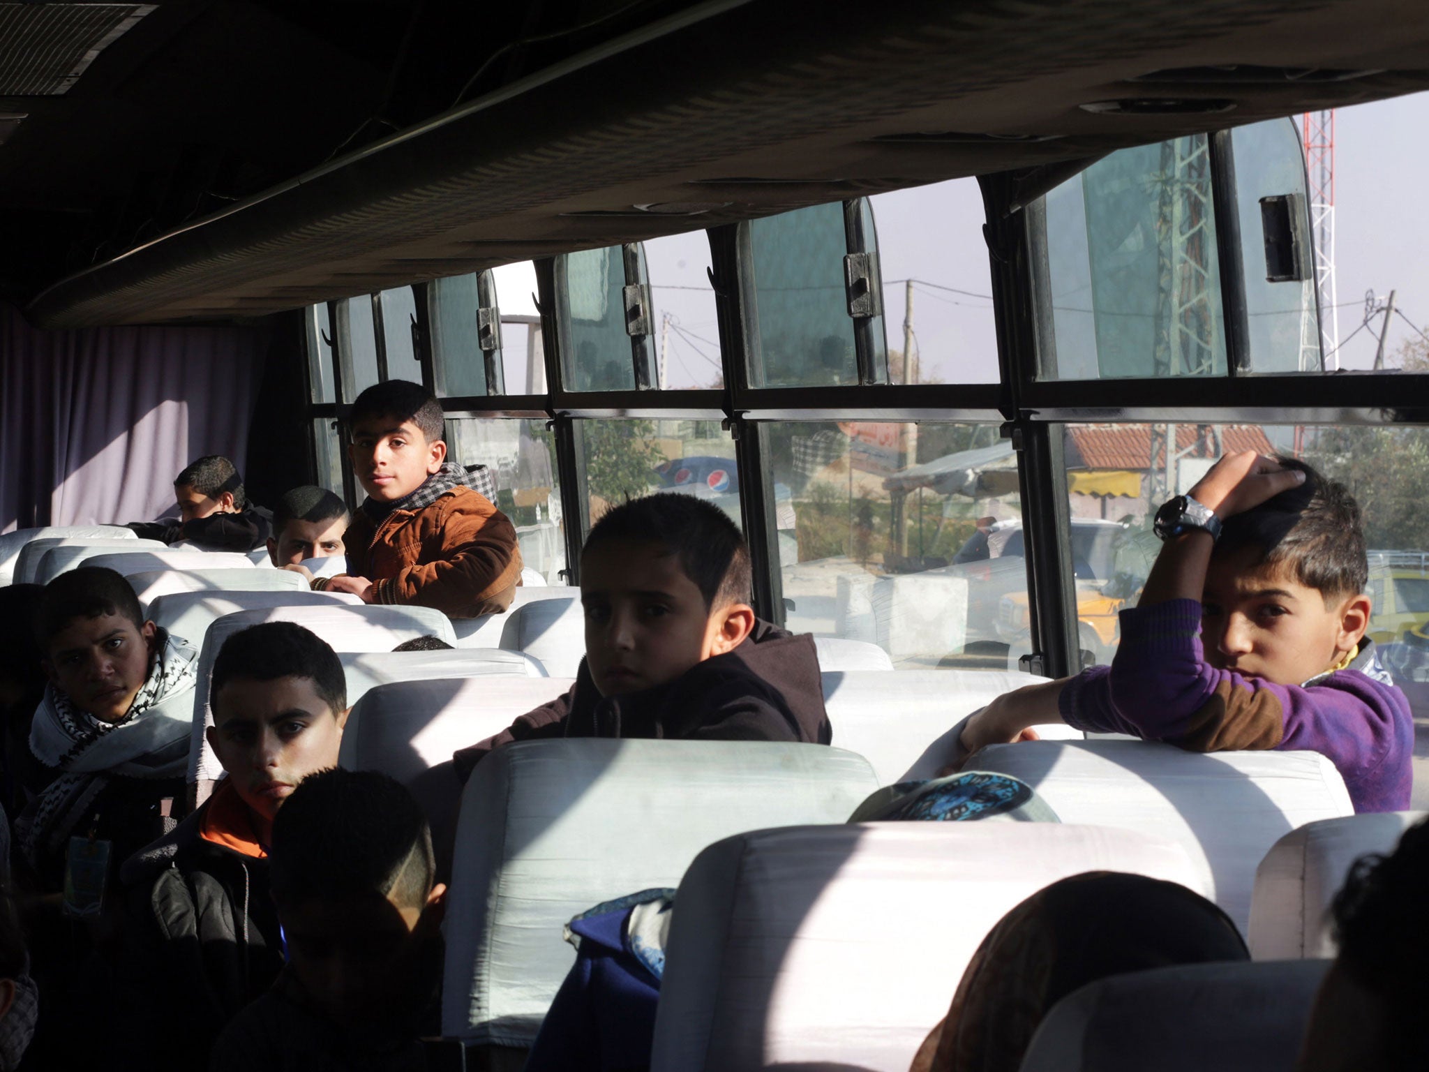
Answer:
M509 729L453 759L464 782L482 756L512 740L546 738L669 738L672 740L833 739L813 637L756 622L733 652L696 663L673 682L602 696L580 660L564 696L522 715Z

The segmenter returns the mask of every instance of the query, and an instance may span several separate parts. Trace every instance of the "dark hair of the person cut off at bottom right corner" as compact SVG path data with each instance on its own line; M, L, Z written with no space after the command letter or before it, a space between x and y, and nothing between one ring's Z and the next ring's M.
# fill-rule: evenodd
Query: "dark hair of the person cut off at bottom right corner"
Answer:
M1330 913L1339 963L1385 1005L1388 1063L1380 1069L1429 1068L1423 1008L1429 982L1429 820L1405 830L1389 856L1362 856L1350 868Z

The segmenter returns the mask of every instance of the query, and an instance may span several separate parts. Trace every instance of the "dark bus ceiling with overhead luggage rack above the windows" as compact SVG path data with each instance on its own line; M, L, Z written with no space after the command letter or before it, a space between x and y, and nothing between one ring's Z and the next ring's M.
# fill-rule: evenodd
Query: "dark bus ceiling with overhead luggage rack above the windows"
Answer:
M1016 172L1016 207L1116 149L1429 89L1416 0L133 7L63 89L21 77L43 41L0 53L0 297L40 326L262 316L969 174Z

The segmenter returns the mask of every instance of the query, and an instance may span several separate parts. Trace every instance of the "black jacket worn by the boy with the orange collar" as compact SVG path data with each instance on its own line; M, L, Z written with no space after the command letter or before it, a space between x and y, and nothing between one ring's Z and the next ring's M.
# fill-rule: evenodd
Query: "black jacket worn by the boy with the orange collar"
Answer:
M283 968L267 859L201 836L221 793L120 869L129 926L119 998L130 1005L121 1068L203 1068L224 1023Z

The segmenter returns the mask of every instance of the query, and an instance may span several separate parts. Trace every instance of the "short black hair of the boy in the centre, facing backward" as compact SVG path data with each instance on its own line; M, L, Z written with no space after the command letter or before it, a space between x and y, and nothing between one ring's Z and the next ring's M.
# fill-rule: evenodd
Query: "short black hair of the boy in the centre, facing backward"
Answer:
M710 612L749 599L753 583L749 547L735 522L714 503L682 492L630 499L590 526L582 553L616 540L657 543L677 556Z

